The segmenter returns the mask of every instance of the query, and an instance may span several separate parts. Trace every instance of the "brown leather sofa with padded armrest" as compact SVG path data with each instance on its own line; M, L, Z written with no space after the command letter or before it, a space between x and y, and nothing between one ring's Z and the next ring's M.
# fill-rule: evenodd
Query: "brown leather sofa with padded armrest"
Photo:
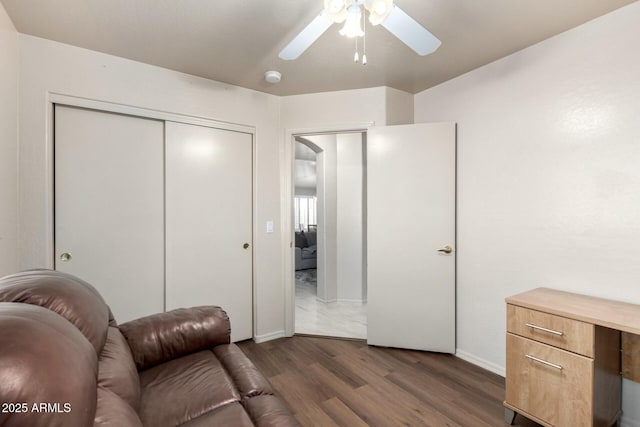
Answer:
M118 326L88 283L0 279L0 426L297 426L219 307Z

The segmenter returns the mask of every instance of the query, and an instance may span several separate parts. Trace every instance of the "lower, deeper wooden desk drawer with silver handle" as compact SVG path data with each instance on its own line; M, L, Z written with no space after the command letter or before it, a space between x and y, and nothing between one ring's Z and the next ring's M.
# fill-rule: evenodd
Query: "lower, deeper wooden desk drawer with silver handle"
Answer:
M506 403L552 426L593 423L593 360L507 334Z

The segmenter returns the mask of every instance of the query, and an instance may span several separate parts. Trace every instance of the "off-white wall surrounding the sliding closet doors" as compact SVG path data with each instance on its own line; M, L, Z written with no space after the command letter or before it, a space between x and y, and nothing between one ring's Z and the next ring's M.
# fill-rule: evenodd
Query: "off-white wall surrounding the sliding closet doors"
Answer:
M283 334L280 98L134 61L20 35L20 267L50 265L47 94L62 93L256 128L255 289L258 339Z

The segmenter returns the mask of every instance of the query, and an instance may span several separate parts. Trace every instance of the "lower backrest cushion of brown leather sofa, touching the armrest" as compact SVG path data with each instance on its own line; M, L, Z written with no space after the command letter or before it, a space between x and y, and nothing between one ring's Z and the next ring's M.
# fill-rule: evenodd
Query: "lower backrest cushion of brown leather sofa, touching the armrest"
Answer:
M140 407L140 379L131 350L120 330L111 326L98 360L98 385L118 395L134 410Z

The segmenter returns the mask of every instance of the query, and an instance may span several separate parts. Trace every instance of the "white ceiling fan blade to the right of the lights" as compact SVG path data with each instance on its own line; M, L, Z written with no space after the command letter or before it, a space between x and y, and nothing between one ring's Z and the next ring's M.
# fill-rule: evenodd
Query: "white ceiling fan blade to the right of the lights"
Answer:
M436 36L396 5L382 26L421 56L435 52L442 44Z

